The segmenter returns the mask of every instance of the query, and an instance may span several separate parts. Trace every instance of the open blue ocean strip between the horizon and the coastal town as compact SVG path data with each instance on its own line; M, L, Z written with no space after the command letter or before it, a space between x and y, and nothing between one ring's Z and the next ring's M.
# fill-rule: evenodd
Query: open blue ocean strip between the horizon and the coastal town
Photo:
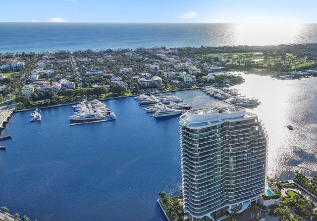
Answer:
M317 42L317 24L0 23L0 53Z

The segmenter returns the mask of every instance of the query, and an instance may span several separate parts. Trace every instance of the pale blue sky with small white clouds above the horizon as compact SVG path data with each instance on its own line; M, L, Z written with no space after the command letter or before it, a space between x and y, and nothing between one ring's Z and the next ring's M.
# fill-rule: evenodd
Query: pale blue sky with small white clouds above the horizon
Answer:
M0 0L0 22L317 23L317 0Z

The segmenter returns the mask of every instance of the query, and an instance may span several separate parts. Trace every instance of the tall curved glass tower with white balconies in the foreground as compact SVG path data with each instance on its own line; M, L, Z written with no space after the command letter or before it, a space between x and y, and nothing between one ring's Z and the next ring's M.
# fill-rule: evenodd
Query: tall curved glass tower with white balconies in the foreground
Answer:
M265 192L267 135L242 107L198 108L180 117L182 193L191 221L241 213Z

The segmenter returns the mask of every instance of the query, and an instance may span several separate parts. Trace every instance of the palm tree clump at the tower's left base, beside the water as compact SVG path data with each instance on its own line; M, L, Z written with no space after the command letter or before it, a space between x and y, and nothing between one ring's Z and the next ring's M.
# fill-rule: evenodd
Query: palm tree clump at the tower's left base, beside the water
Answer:
M166 192L159 191L159 200L164 207L164 210L172 221L185 221L186 213L181 204L180 197L168 197Z

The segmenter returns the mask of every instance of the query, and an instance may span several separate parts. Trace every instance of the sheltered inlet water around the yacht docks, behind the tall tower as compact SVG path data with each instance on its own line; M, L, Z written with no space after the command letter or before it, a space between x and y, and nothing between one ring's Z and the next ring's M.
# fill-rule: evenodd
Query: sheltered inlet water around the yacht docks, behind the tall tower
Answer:
M317 78L273 80L242 75L234 86L262 104L254 110L269 135L268 174L317 170ZM201 90L175 92L193 108L227 106ZM1 131L0 205L45 221L164 221L158 192L181 185L178 117L150 117L133 98L107 100L116 121L70 126L70 106L14 113ZM292 124L294 130L286 128Z

